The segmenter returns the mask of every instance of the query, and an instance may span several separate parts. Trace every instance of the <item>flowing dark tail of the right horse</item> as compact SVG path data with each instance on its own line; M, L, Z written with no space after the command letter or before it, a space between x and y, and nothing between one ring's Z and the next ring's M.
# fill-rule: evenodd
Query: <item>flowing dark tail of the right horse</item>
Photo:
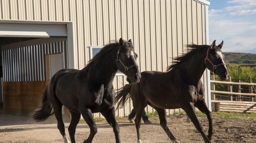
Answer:
M126 84L124 87L118 89L115 96L116 109L123 108L126 101L129 99L133 84Z

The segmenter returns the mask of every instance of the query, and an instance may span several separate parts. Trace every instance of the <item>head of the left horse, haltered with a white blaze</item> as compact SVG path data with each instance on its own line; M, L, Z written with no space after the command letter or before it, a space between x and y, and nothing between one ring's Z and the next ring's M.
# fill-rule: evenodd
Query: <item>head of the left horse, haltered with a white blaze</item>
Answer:
M128 76L132 83L138 83L141 79L141 73L136 63L138 55L134 51L132 40L130 39L127 42L120 38L119 45L116 61L117 69Z

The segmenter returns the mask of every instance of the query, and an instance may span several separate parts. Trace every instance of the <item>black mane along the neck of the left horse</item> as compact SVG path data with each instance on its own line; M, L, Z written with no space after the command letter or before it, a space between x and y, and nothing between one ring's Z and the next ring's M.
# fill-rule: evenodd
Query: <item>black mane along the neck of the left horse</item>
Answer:
M107 45L104 45L103 48L88 62L87 66L89 65L96 65L99 61L103 59L104 56L106 56L110 51L117 49L119 47L119 43L109 43Z

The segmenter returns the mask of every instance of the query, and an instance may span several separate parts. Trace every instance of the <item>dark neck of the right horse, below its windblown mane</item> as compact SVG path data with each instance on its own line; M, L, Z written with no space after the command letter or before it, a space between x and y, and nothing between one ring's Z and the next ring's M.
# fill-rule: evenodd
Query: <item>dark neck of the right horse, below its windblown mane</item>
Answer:
M200 53L195 53L191 59L187 60L182 64L184 71L187 74L187 77L192 83L198 84L200 81L206 66L205 66L205 57L206 50L202 49Z

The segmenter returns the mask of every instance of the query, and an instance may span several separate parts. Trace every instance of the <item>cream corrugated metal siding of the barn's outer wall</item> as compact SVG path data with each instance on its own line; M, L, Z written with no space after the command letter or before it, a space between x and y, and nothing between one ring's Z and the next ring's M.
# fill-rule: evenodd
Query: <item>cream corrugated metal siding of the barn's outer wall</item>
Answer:
M73 21L77 69L90 60L89 46L120 37L132 39L141 72L165 71L170 58L184 52L185 44L206 43L205 5L195 0L3 0L0 8L2 19ZM125 79L116 76L115 89L127 84ZM202 81L206 86L206 74ZM128 115L131 109L130 102L116 115Z

